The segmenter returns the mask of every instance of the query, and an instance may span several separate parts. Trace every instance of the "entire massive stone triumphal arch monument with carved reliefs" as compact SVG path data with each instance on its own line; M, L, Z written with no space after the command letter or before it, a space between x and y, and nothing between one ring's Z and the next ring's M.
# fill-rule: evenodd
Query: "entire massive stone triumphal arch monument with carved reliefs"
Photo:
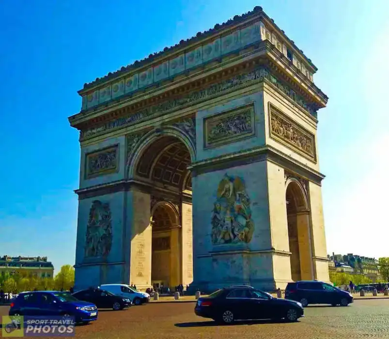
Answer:
M328 281L316 67L255 8L79 91L76 285Z

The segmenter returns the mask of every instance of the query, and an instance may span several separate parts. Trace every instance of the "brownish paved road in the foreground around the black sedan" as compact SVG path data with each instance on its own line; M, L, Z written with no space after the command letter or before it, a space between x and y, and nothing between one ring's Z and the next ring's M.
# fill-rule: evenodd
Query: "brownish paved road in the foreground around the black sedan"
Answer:
M194 303L153 303L123 311L101 310L98 321L77 326L82 339L345 339L388 338L389 300L356 300L341 307L308 307L294 324L269 322L216 325L196 317ZM8 307L0 307L6 315ZM47 337L46 337L47 338Z

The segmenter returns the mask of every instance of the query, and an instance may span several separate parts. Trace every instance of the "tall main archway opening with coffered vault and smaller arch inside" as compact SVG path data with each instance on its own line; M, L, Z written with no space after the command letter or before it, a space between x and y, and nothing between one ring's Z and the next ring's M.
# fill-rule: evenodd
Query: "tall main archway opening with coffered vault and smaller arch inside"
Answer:
M187 145L170 134L145 138L134 159L133 176L150 186L152 197L151 285L155 288L174 288L191 282L188 271L192 272L193 266L192 185L187 169L191 162ZM189 205L188 217L185 212Z

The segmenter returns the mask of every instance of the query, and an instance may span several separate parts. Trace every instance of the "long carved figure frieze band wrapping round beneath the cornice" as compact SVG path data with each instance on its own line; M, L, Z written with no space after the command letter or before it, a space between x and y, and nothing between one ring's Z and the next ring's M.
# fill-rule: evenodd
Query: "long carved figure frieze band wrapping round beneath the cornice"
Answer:
M235 77L223 80L217 84L210 85L209 87L191 92L183 95L180 98L161 102L157 105L144 108L136 113L132 113L128 116L118 118L116 120L105 123L101 126L89 128L80 131L80 140L93 138L96 135L106 133L115 128L121 128L124 126L139 123L140 121L150 119L152 116L156 116L162 113L168 113L175 109L184 108L186 106L194 105L202 101L211 99L212 97L223 95L228 92L232 92L244 87L248 87L254 83L262 82L264 80L270 81L281 92L288 95L292 100L296 102L301 108L308 110L312 116L316 117L315 111L303 101L294 91L289 87L281 83L276 77L270 74L265 67L259 67L251 72L239 74Z

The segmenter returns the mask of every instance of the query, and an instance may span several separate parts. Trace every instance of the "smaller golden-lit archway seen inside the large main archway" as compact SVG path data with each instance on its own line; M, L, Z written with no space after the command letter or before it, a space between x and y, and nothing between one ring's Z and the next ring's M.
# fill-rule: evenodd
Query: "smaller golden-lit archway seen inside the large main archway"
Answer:
M152 210L151 281L154 288L173 288L182 283L182 236L179 213L166 201Z

